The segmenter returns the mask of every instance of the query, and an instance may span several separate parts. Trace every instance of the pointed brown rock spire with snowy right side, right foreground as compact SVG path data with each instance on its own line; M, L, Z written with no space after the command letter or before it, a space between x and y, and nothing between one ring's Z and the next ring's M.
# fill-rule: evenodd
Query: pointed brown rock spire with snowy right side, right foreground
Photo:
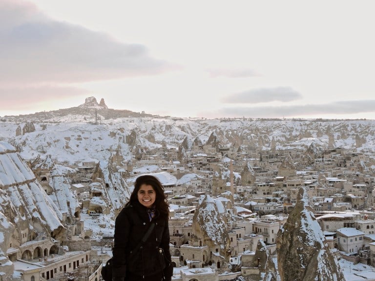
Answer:
M343 281L335 256L324 243L304 188L277 235L277 262L282 281Z

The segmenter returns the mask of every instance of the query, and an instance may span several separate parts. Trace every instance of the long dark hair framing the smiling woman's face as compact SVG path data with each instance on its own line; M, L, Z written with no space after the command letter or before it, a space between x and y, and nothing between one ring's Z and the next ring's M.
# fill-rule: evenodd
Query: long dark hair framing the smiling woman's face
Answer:
M138 202L138 190L141 188L142 184L147 184L147 185L152 186L152 188L155 190L155 193L156 193L156 198L155 198L156 209L160 212L161 215L168 216L169 215L169 203L167 201L166 195L164 194L164 187L162 183L156 177L151 176L151 175L139 176L135 180L134 190L131 193L130 199L125 204L125 206Z

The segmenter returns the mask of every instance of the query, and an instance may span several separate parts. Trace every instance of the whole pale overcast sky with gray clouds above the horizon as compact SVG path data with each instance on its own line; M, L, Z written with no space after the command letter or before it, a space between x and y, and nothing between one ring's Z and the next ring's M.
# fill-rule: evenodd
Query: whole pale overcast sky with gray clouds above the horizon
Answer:
M0 116L375 119L373 1L0 0Z

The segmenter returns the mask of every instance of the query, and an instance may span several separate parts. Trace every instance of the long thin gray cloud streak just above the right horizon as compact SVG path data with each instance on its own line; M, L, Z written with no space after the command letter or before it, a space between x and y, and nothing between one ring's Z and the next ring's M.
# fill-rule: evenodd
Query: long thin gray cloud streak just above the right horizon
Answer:
M305 116L345 115L375 112L375 100L345 100L326 104L305 104L288 106L260 106L223 108L214 113L222 117L248 118L303 118ZM202 113L202 116L213 113Z

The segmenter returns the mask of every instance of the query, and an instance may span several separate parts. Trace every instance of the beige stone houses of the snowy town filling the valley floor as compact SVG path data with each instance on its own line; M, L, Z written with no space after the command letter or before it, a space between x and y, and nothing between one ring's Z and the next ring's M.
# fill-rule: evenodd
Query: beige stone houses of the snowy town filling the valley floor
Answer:
M145 167L152 167L153 174L168 173L176 179L195 174L184 183L162 182L171 211L173 280L234 280L256 272L253 259L258 241L264 241L271 255L276 255L277 233L301 187L309 194L315 218L334 254L375 266L375 165L364 153L334 147L319 153L310 148L276 150L272 144L269 150L216 149L194 141L183 157L178 148L167 146L153 150L137 147L133 155L124 167L126 179L145 173ZM83 205L77 209L76 222L70 223L75 226L69 226L62 247L54 246L53 241L23 237L21 252L9 248L10 260L20 258L17 255L25 262L29 259L29 266L15 261L23 280L100 280L102 264L111 256L113 237L93 239L83 230L81 220L87 210L102 215L108 210L90 200L104 196L90 184L95 166L95 162L83 161L75 167L77 173L70 175ZM48 193L47 177L47 171L38 174ZM203 226L193 220L204 196L221 201L235 218L224 220L228 236L223 245L200 231ZM25 251L30 254L24 255ZM33 262L36 257L39 263Z

